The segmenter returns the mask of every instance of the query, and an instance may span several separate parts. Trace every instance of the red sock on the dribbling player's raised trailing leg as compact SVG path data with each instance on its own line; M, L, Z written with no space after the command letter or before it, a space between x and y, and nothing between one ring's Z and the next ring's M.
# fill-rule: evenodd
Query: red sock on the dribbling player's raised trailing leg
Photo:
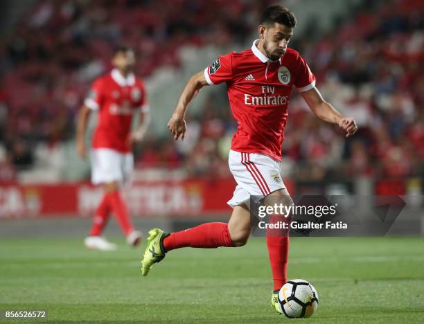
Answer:
M191 246L213 249L220 246L234 246L227 223L206 223L185 231L170 233L164 239L166 251Z

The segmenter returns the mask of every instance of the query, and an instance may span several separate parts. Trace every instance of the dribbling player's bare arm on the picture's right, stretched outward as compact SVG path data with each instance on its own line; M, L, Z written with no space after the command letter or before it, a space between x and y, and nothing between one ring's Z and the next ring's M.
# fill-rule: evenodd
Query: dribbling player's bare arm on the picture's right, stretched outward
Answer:
M355 120L345 117L339 113L329 102L322 98L321 93L316 87L308 91L301 92L303 99L318 118L339 125L346 131L346 137L352 136L357 131Z

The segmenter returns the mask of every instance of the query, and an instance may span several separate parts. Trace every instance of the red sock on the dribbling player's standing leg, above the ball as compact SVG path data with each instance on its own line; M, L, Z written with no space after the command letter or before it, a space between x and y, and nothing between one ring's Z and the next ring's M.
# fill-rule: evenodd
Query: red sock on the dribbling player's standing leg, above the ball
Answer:
M270 223L276 223L278 221L290 223L290 220L284 217L270 217ZM274 290L279 290L285 282L287 282L287 263L290 242L288 234L288 230L267 230L267 248L268 255L270 255Z

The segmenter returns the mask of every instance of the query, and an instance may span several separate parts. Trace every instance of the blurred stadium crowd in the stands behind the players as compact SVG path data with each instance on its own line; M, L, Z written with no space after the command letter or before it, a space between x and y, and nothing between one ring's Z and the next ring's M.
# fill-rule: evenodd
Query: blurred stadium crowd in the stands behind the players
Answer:
M162 64L178 69L176 53L185 44L251 44L258 14L273 2L39 2L0 44L0 179L31 168L37 143L54 148L73 141L76 112L90 82L109 68L112 44L132 46L139 57L136 73L148 77ZM325 33L310 21L290 44L317 75L324 98L356 118L360 131L344 138L312 116L294 91L283 144L285 176L396 178L424 172L422 1L371 3L364 1ZM211 92L201 111L189 116L184 143L150 132L136 165L227 176L236 125L224 90Z

